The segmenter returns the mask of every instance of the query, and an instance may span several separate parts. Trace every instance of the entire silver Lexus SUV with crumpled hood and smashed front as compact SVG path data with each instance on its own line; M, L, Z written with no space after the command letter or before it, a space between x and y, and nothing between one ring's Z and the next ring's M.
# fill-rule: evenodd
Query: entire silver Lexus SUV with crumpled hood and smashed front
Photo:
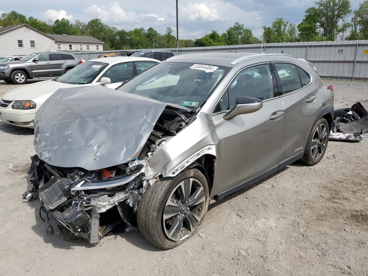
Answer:
M97 243L139 227L170 249L219 200L323 157L333 88L282 54L172 57L116 90L59 89L38 110L29 173L43 212ZM49 225L49 230L52 229Z

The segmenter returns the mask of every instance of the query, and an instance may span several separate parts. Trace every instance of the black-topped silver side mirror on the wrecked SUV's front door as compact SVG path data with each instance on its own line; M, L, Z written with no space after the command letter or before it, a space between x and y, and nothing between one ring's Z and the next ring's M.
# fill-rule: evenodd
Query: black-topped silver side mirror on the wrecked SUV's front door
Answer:
M261 109L263 102L252 97L237 96L234 107L224 115L224 120L230 120L240 114L248 114Z

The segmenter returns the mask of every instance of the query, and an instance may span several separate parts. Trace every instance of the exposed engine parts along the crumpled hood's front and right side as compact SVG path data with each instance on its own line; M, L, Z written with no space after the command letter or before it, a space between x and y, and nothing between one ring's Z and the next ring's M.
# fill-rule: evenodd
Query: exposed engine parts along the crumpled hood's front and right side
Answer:
M114 166L96 170L60 167L48 164L39 155L32 156L28 173L33 189L25 192L23 201L30 201L38 192L42 204L40 215L41 210L46 213L47 219L49 214L53 215L64 230L70 231L68 234L90 243L98 243L114 231L121 232L137 226L135 212L138 202L159 177L150 167L150 157L192 119L194 116L190 111L167 106L138 157ZM39 131L38 124L39 121L35 122L35 132ZM36 145L35 142L35 148ZM47 231L53 233L50 223ZM61 232L65 234L65 231Z

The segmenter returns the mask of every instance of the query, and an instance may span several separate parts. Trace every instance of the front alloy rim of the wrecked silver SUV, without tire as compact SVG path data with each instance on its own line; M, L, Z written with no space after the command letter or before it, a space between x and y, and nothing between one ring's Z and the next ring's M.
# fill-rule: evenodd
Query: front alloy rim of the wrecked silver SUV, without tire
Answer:
M190 236L201 220L205 199L203 185L197 179L187 178L176 185L162 215L163 229L170 240Z

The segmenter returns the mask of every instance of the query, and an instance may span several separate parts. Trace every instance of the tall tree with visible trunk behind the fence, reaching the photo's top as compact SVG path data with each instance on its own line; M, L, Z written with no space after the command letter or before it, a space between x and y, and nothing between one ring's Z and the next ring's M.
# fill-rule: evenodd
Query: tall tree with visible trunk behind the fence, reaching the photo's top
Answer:
M335 40L343 21L350 13L349 0L320 0L315 2L318 11L318 24L322 29L322 35L327 40Z

